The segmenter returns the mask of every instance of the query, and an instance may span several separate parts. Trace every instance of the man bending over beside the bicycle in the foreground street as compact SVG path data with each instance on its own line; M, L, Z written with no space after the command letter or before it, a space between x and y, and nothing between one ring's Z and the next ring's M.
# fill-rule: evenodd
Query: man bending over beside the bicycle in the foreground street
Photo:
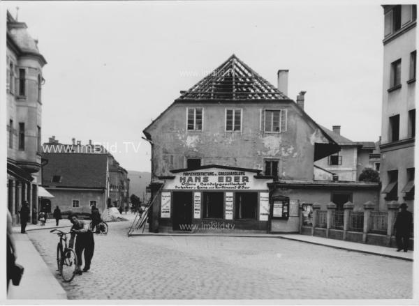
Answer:
M81 275L90 269L91 259L94 253L94 237L89 229L89 225L82 220L78 220L78 215L72 213L68 216L68 220L73 224L71 227L70 247L73 248L77 256L77 270L76 273ZM74 244L75 239L75 244ZM84 268L82 268L82 253L84 252Z

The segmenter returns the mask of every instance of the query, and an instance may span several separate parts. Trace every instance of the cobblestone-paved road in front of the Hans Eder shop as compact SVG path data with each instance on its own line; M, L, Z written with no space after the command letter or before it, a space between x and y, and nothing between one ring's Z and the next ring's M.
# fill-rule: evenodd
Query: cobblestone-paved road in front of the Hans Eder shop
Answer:
M280 238L95 236L91 271L70 299L412 298L413 263ZM55 272L56 237L29 237Z

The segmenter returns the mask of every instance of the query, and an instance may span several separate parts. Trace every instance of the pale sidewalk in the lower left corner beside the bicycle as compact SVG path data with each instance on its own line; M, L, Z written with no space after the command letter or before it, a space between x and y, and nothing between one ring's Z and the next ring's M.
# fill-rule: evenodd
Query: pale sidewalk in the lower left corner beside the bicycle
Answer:
M13 237L17 250L16 263L24 267L24 273L19 286L10 282L8 300L67 299L66 291L52 275L29 237L26 234L13 234Z

